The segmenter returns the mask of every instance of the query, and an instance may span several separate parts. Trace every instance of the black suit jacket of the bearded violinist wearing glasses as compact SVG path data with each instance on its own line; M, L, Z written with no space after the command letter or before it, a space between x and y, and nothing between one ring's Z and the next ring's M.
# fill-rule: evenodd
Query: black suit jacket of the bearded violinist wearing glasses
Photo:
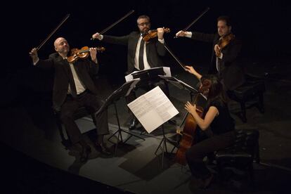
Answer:
M110 44L122 44L127 46L127 74L133 72L134 70L134 58L136 56L136 46L138 44L138 39L141 34L139 32L131 32L124 37L113 37L113 36L103 36L103 41ZM155 39L150 39L146 45L146 55L150 67L161 67L163 66L160 56L166 54L166 49L160 41Z

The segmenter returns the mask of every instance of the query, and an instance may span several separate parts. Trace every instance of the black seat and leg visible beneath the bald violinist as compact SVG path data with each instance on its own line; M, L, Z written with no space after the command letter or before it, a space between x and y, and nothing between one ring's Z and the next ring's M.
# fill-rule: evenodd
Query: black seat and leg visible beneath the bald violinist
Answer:
M63 123L60 120L60 112L56 112L55 110L53 110L53 114L56 117L56 124L58 127L58 131L60 133L60 138L62 139L62 144L65 146L65 149L70 148L70 146L72 145L71 141L70 141L70 137L67 136L67 138L65 138L65 134L64 134L64 127L63 127ZM85 107L80 107L73 115L74 119L80 119L82 117L86 117L87 115L90 115L89 111L85 108ZM93 115L92 115L93 116ZM92 117L94 118L94 117ZM95 124L95 119L93 119L93 123ZM65 131L67 134L67 131Z

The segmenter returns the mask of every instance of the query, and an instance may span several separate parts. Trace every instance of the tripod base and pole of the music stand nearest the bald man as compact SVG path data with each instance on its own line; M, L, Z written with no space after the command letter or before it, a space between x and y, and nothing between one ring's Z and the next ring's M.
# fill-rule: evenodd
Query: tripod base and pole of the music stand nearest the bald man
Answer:
M124 129L121 129L121 127L120 127L120 123L119 123L119 117L118 117L118 115L117 115L117 107L116 107L116 103L114 103L114 108L115 108L115 114L116 114L116 119L117 119L118 129L117 129L117 131L115 131L114 134L112 134L112 135L108 138L108 141L110 141L110 138L112 138L113 136L115 136L115 134L118 133L118 135L117 135L117 143L114 143L114 142L110 141L110 143L115 144L115 156L117 156L117 147L118 147L118 144L120 144L120 143L126 143L126 142L129 140L129 138L131 138L131 136L135 136L136 138L140 138L140 139L142 139L143 141L145 141L145 138L142 138L142 137L137 136L137 135L135 135L135 134L131 134L129 131L125 131ZM123 138L122 138L122 132L124 132L124 133L130 135L130 136L127 138L127 140L125 140L125 141L123 141Z

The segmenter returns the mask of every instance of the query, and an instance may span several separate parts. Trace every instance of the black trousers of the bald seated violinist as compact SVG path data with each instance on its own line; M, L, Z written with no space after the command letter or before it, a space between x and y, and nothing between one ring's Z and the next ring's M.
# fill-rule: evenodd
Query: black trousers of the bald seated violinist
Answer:
M81 107L85 107L91 113L92 119L96 124L97 134L105 135L108 134L108 112L105 110L97 117L95 112L101 108L103 102L100 98L85 91L81 93L77 98L67 95L65 103L60 108L60 120L63 122L68 136L72 143L77 143L82 140L82 134L75 123L73 118L74 113Z

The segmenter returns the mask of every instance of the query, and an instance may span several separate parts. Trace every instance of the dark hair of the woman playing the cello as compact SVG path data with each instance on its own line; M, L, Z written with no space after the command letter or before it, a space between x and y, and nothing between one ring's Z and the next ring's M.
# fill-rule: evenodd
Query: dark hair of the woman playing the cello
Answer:
M214 100L219 101L221 105L227 102L224 86L216 75L203 75L200 81L202 84L200 92L209 89L207 93L207 105Z

